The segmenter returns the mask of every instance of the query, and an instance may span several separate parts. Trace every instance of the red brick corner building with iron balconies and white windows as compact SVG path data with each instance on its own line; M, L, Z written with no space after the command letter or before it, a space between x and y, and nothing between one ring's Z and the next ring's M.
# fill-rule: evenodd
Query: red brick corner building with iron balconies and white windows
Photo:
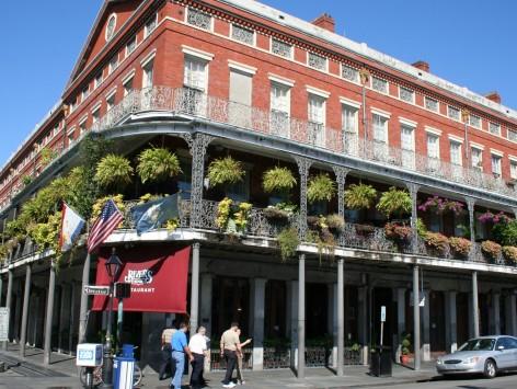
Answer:
M77 163L78 145L91 131L115 139L118 149L128 155L166 136L166 145L185 160L186 171L192 169L192 174L179 183L187 188L192 203L189 225L182 227L196 237L187 241L202 243L200 294L205 300L202 298L198 311L191 311L191 318L217 334L227 323L214 312L234 316L233 310L241 309L243 302L232 300L228 307L219 307L206 299L214 294L214 299L226 296L230 300L237 293L251 301L245 304L250 316L239 319L256 340L250 362L255 368L268 366L267 342L263 341L276 332L290 339L295 363L297 342L305 334L297 332L297 314L300 319L301 313L294 307L306 291L302 283L292 282L297 279L292 265L280 266L265 259L275 252L271 242L274 234L257 229L250 232L253 243L231 250L205 245L204 240L209 239L196 234L198 229L210 229L204 202L220 199L203 190L204 161L230 152L245 163L248 172L241 186L226 193L235 201L266 207L271 198L261 193L260 180L275 161L300 173L297 201L302 240L307 214L333 210L351 221L349 231L357 239L338 237L335 250L338 271L343 271L343 260L351 262L345 273L345 297L336 291L343 289L343 279L335 289L324 286L334 284L335 266L314 265L317 250L310 244L299 249L305 255L300 268L305 270L305 258L309 260L305 331L308 339L313 336L313 327L325 317L328 333L335 337L333 364L341 361L336 357L342 354L338 340L345 332L348 342L360 343L364 350L375 343L376 330L368 332L366 328L368 322L372 327L381 305L390 307L386 336L394 350L401 333L412 330L413 318L423 317L418 320L423 321L425 358L430 352L455 348L469 334L517 334L514 267L503 260L490 265L479 250L478 259L469 256L471 261L444 261L428 252L393 253L392 249L376 247L372 242L377 238L368 241L354 226L367 221L379 227L386 220L375 210L365 219L344 209L342 201L351 183L365 181L379 191L391 185L407 187L413 201L413 230L416 216L428 229L448 236L460 234L457 226L464 225L473 247L478 247L490 238L486 226L478 221L481 214L517 214L517 111L502 105L496 92L478 95L433 75L425 61L404 64L340 36L328 14L309 23L253 0L113 0L100 11L61 100L0 173L4 221L14 218L23 202L53 176ZM319 171L335 178L340 198L308 207L307 180ZM417 215L416 204L434 195L461 202L467 211ZM112 243L120 241L115 237ZM33 254L23 254L20 247L18 250L18 256L10 256L14 268L20 267L20 259ZM232 266L231 260L242 261L246 251L267 271L245 264L242 272L227 271L225 266ZM383 252L381 264L379 252ZM220 263L215 267L203 264L208 259L219 259ZM387 275L382 266L390 263L393 271ZM424 285L428 304L418 313L407 308L407 283L418 285L422 267L428 272ZM4 266L2 272L14 272L10 268ZM13 276L22 274L22 268L16 272ZM275 272L277 279L272 276ZM76 290L80 276L72 273L71 289ZM478 273L483 278L479 296L471 291L471 285L478 288ZM198 279L199 275L192 277ZM191 285L198 287L197 281ZM69 304L71 291L62 290ZM192 294L194 299L197 294ZM280 302L274 302L275 294ZM77 291L73 295L77 299ZM318 312L314 307L322 299L331 302ZM332 301L344 304L344 317ZM78 316L78 304L71 302L67 309ZM266 307L264 317L253 316L251 307L257 305ZM198 307L198 301L192 300L191 307ZM70 323L59 319L54 325L62 330L78 320L76 317ZM150 314L138 320L146 323L142 331L147 334L152 332L151 323L162 327L170 317ZM20 333L16 331L13 336ZM68 343L60 340L58 348L67 343L65 348L72 351L73 336ZM143 345L143 351L149 362L152 347Z

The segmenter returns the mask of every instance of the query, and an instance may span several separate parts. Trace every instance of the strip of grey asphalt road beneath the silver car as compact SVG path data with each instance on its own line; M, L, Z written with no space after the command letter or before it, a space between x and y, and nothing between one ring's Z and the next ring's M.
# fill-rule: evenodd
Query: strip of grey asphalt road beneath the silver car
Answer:
M387 386L390 389L517 389L517 374L498 376L494 379L482 377L435 378L428 382Z

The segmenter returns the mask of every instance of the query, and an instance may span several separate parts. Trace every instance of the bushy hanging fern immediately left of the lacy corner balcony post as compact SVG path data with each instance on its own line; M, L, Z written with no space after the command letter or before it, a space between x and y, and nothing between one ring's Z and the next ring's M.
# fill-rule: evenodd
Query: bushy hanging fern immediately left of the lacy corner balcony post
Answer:
M176 155L164 148L150 148L138 156L137 172L145 184L148 181L165 181L182 170Z

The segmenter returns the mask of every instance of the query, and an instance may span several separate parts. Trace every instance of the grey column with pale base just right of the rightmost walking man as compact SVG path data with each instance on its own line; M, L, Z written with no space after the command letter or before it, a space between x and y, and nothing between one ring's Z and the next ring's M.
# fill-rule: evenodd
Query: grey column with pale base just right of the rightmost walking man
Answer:
M264 369L264 308L266 279L253 279L253 370Z

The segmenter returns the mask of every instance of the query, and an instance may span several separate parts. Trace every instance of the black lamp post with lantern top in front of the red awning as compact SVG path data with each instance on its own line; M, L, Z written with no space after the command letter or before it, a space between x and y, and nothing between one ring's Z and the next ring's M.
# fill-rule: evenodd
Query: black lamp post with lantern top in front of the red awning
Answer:
M122 267L122 261L116 255L116 249L112 249L112 255L104 264L110 276L110 307L107 310L106 341L104 342L104 364L103 364L103 388L113 388L113 359L112 359L112 312L113 312L113 285Z

